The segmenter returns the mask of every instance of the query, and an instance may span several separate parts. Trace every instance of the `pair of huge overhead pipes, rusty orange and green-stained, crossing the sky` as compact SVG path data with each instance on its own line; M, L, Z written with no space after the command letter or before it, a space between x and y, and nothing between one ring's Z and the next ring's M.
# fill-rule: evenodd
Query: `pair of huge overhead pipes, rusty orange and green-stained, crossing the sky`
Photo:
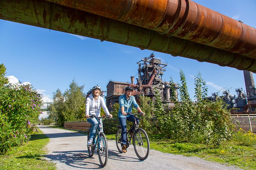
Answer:
M256 73L255 29L190 0L1 0L0 19Z

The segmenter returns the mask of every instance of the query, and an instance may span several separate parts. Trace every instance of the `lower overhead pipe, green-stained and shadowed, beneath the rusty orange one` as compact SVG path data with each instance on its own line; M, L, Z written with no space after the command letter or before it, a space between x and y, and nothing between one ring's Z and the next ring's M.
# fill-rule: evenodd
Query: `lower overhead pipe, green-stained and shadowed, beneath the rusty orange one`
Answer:
M0 19L256 73L256 60L253 58L177 37L167 37L153 30L45 0L1 0Z

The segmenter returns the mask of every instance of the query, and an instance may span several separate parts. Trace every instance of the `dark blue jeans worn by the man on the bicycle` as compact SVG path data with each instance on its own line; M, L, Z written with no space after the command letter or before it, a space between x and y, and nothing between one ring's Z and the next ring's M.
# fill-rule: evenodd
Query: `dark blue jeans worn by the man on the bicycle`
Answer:
M126 145L126 120L134 123L134 115L130 115L129 117L118 117L120 125L121 125L121 145ZM137 125L139 125L139 119L136 117ZM131 129L133 130L134 127Z

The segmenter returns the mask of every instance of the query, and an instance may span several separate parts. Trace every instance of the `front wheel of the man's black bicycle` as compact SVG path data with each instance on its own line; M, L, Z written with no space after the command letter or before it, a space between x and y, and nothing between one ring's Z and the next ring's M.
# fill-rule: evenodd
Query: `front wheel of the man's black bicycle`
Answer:
M133 136L133 146L136 155L140 160L145 160L149 156L149 137L143 129L137 129Z

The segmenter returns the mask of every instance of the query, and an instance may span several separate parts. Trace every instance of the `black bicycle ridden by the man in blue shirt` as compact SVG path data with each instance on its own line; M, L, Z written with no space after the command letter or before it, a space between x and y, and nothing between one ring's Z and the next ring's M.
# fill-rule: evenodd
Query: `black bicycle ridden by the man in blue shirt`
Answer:
M140 160L147 159L149 155L149 138L147 133L141 129L138 128L137 122L136 122L136 115L141 115L141 113L127 113L127 115L134 115L134 123L131 126L134 127L132 134L130 136L130 139L128 140L128 132L131 132L131 128L129 131L126 131L126 149L131 144L132 139L132 145L134 147L135 153L138 156ZM121 126L117 126L116 131L116 146L119 152L122 152L121 148Z

